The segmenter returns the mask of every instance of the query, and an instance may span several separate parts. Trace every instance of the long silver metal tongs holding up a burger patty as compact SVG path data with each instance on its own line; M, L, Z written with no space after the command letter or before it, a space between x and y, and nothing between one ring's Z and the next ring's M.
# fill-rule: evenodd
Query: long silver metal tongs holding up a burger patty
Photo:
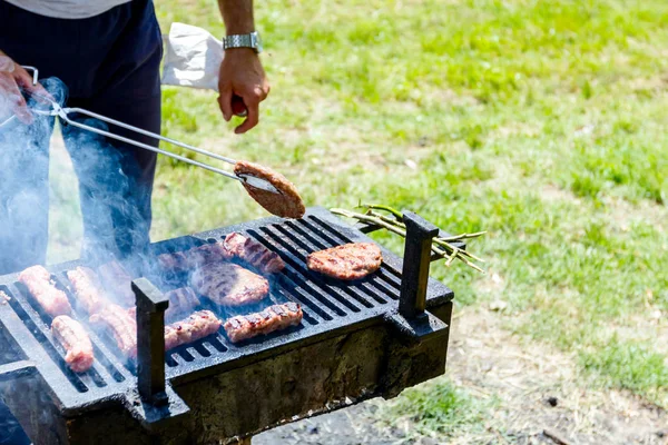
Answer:
M37 71L37 69L33 68L33 67L23 67L23 68L30 69L30 70L33 71L33 82L35 82L35 85L37 85L37 79L38 79L38 71ZM130 145L132 145L135 147L144 148L144 149L149 150L149 151L154 151L154 152L157 152L157 154L160 154L160 155L165 155L165 156L170 157L173 159L177 159L177 160L180 160L183 162L190 164L193 166L202 167L202 168L204 168L206 170L216 172L218 175L223 175L223 176L225 176L227 178L236 179L236 180L238 180L238 181L240 181L240 182L243 182L245 185L248 185L250 187L258 188L258 189L262 189L262 190L266 190L266 191L271 191L271 192L281 195L281 190L278 190L276 187L274 187L269 181L267 181L265 179L257 178L255 176L246 175L246 174L235 175L233 172L223 170L220 168L217 168L217 167L214 167L214 166L209 166L208 164L204 164L204 162L199 162L197 160L188 159L185 156L176 155L176 154L173 154L170 151L166 151L166 150L163 150L160 148L156 148L156 147L149 146L148 144L139 142L138 140L126 138L124 136L116 135L114 132L104 130L101 128L95 128L95 127L88 126L86 123L78 122L76 120L70 119L69 115L76 112L76 113L79 113L79 115L88 116L88 117L95 118L97 120L100 120L102 122L111 123L111 125L125 128L127 130L134 131L136 134L148 136L150 138L158 139L158 140L161 140L164 142L168 142L168 144L171 144L174 146L185 148L186 150L195 151L196 154L204 155L204 156L207 156L209 158L222 160L224 162L228 162L228 164L232 164L232 165L235 165L237 162L235 159L232 159L232 158L228 158L228 157L225 157L225 156L220 156L220 155L216 155L216 154L213 154L210 151L203 150L202 148L193 147L193 146L190 146L188 144L179 142L178 140L175 140L175 139L171 139L171 138L167 138L165 136L157 135L155 132L143 130L141 128L132 127L130 125L120 122L120 121L118 121L116 119L111 119L111 118L98 115L96 112L85 110L82 108L63 108L63 107L60 106L60 103L58 103L57 101L55 101L52 98L43 96L43 95L38 95L38 93L35 93L35 92L27 92L27 91L24 91L24 93L28 95L28 96L30 96L30 97L32 97L32 98L35 98L35 99L37 99L39 102L45 103L45 105L48 106L48 108L46 108L46 109L42 109L42 108L31 108L31 111L35 115L53 116L53 117L58 116L65 122L67 122L68 125L73 126L73 127L81 128L84 130L91 131L91 132L95 132L97 135L106 136L108 138L116 139L116 140L119 140L121 142L130 144ZM8 123L13 118L14 118L14 116L10 117L8 120L4 120L3 122L0 123L0 127L2 127L3 125Z

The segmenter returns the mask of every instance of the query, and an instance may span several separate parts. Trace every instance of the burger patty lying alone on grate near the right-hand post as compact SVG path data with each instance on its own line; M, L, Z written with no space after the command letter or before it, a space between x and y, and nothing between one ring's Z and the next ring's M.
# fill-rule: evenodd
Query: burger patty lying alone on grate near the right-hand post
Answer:
M381 267L383 256L373 243L351 243L314 251L306 258L311 270L338 279L360 279Z

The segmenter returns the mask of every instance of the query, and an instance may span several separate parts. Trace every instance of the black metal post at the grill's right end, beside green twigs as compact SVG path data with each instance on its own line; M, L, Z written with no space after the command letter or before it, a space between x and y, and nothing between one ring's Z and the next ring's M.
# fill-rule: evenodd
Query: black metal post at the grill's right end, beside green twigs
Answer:
M432 238L439 228L412 211L403 212L406 225L401 294L399 313L405 318L414 318L426 307L426 286L431 263Z

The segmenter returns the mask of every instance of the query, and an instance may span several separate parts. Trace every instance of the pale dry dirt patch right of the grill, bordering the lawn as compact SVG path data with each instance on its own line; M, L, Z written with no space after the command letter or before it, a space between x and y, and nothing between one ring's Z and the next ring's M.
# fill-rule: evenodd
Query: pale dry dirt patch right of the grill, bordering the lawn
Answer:
M448 373L458 386L501 402L490 418L509 442L665 444L668 415L621 392L588 386L572 357L544 344L522 342L490 312L464 310L454 323ZM474 442L484 442L477 437Z

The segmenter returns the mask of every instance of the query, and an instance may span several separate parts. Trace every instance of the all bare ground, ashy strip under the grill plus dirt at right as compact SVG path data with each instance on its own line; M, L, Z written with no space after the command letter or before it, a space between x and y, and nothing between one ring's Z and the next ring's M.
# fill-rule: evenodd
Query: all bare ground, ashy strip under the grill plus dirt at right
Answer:
M254 438L268 444L668 444L668 415L617 390L592 389L573 357L522 340L487 309L455 315L446 376L474 397L494 399L480 433L448 441L411 437L411 425L386 428L374 418L383 402L301 421Z

